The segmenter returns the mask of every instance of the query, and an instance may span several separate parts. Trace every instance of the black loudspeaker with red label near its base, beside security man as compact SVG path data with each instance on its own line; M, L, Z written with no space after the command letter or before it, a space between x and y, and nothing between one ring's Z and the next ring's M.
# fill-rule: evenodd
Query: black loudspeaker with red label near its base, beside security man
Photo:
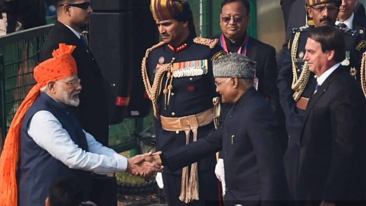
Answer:
M122 122L127 114L132 84L131 27L132 11L94 12L90 19L90 49L106 82L109 124Z

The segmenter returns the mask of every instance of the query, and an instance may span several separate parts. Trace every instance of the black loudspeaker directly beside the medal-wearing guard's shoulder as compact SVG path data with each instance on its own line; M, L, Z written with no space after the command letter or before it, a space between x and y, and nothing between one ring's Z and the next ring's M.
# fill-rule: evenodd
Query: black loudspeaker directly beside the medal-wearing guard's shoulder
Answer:
M152 107L142 81L142 58L145 56L146 49L159 41L159 32L150 11L150 0L133 1L132 22L133 81L127 117L138 118L150 114Z

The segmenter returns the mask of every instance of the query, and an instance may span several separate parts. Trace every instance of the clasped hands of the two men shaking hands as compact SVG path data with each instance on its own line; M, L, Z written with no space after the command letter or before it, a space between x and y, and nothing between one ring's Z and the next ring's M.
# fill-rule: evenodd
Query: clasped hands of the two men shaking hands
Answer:
M162 172L164 166L161 165L160 154L160 151L147 152L129 158L126 172L140 177L153 176L156 172Z

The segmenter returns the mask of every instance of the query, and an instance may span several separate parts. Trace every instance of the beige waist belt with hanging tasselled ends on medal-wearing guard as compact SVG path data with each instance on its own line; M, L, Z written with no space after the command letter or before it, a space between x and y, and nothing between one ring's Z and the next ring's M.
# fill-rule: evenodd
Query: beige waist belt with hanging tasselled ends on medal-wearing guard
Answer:
M186 144L189 144L190 131L193 132L193 141L197 141L197 129L199 126L208 125L213 121L213 108L198 114L186 117L164 117L160 116L161 126L168 131L184 131L186 133ZM198 200L198 176L197 162L191 165L191 172L188 179L188 166L182 171L182 186L180 188L180 201L189 203Z

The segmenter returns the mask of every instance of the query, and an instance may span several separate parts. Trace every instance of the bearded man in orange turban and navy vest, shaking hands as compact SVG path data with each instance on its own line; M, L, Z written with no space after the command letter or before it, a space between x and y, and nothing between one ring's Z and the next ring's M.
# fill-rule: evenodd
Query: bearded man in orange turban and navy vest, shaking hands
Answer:
M75 46L59 46L53 58L34 68L37 84L16 112L5 139L0 157L1 206L17 202L18 206L43 206L49 186L61 177L75 179L87 193L91 172L145 176L161 171L160 166L144 161L150 160L149 154L127 159L82 129L68 108L78 106L82 89L71 55Z

